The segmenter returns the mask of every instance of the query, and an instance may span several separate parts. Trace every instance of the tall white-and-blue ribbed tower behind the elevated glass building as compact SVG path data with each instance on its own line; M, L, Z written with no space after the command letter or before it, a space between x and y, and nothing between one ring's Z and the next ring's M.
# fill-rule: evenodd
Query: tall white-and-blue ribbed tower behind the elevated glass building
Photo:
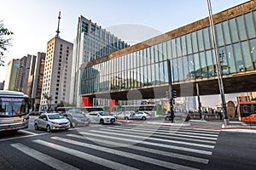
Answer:
M80 66L92 60L100 59L129 45L111 34L109 31L97 26L96 23L79 17L77 36L73 48L73 79L71 82L73 92L71 100L78 106L81 105L80 94Z

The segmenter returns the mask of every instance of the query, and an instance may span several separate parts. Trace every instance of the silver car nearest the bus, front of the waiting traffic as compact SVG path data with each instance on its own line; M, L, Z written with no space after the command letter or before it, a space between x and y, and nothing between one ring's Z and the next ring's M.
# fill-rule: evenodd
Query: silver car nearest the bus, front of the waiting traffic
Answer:
M42 113L37 119L35 119L34 127L36 130L44 128L46 129L46 132L49 133L51 130L55 129L67 130L70 127L70 122L59 113Z

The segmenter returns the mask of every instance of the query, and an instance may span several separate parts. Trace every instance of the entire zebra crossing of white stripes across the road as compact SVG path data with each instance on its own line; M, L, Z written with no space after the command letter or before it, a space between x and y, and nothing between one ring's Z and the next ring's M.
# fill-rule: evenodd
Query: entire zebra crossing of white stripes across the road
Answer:
M220 131L147 125L78 128L63 136L10 144L55 169L84 169L62 156L110 169L201 169L212 156ZM37 147L44 146L44 150ZM50 150L48 152L48 150ZM53 150L61 156L50 156ZM87 168L86 168L87 169Z

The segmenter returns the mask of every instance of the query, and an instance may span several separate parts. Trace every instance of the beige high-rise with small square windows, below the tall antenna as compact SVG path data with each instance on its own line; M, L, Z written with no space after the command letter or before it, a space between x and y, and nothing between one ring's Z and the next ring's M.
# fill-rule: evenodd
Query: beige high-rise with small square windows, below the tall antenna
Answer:
M73 43L54 37L47 43L40 109L47 108L43 94L52 96L53 109L61 100L69 102ZM33 94L34 95L34 94Z

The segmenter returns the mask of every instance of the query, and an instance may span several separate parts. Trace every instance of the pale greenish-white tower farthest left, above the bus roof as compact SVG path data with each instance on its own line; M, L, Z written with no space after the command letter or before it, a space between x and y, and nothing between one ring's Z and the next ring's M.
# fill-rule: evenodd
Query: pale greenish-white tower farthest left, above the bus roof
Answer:
M12 59L8 63L5 77L4 90L16 90L16 81L18 77L20 59Z

